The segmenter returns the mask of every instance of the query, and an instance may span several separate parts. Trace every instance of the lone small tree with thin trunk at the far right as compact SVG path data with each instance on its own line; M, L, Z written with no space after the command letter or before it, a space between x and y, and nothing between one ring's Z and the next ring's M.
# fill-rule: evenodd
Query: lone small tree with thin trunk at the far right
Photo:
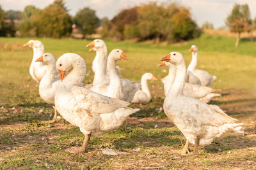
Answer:
M235 4L228 15L226 24L231 32L237 32L236 47L239 44L241 32L250 31L252 20L248 4Z

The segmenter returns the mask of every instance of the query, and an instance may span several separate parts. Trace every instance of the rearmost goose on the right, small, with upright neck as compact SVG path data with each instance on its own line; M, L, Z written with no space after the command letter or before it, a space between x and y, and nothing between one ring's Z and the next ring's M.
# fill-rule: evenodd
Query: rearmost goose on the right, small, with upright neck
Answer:
M192 45L189 51L192 52L192 60L188 66L188 71L195 74L195 76L201 81L201 85L211 87L213 80L216 79L216 76L212 76L207 71L196 69L198 60L198 50L196 45Z

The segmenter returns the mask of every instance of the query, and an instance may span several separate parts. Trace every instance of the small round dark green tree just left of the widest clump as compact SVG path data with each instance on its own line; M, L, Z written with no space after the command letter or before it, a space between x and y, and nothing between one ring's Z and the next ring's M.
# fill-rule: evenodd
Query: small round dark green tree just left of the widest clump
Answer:
M88 7L77 11L74 21L82 28L83 38L85 38L86 34L94 33L100 22L99 18L95 14L95 11Z

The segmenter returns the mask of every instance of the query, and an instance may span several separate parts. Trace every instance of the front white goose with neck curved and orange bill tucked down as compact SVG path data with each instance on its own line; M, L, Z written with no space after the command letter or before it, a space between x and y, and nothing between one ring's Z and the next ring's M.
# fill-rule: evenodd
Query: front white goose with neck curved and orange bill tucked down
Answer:
M76 76L81 71L80 59L72 59L62 55L56 63L61 76L61 85L56 91L55 106L60 115L70 124L76 125L84 134L81 148L69 151L88 152L90 136L98 136L113 131L123 124L125 119L138 109L127 107L129 103L119 99L102 96L85 87L77 85ZM67 71L70 71L67 74Z

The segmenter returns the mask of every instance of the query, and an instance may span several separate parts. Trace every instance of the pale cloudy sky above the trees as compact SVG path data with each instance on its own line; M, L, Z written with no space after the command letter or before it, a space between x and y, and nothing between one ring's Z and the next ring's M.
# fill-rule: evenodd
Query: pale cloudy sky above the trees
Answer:
M54 0L0 0L3 10L23 11L25 6L33 4L37 8L45 8ZM96 11L99 18L113 18L118 12L125 8L132 7L141 3L157 1L159 3L170 2L170 0L65 0L70 15L76 15L76 12L88 6ZM172 0L180 3L191 10L193 19L198 25L205 21L211 22L214 28L223 27L228 13L232 10L235 3L247 3L250 7L251 17L256 17L256 0Z

